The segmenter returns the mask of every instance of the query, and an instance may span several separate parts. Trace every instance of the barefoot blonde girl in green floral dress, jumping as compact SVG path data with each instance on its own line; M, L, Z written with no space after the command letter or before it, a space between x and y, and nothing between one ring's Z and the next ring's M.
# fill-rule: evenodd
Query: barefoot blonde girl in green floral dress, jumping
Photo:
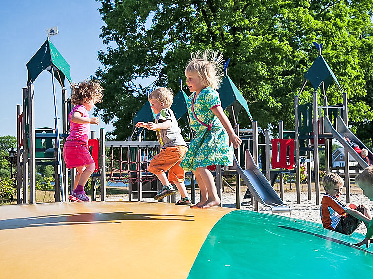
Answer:
M180 166L191 170L200 188L201 200L192 208L210 208L220 204L210 165L233 165L233 148L241 139L221 107L216 91L223 76L222 55L217 51L197 51L191 54L185 76L192 94L188 98L190 126L196 132Z

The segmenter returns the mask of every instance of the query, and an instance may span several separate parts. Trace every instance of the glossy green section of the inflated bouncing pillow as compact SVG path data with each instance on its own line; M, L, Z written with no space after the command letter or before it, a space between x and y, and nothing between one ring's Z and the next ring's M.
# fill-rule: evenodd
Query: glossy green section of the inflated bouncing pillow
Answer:
M188 278L365 278L373 274L373 245L353 245L361 239L312 222L237 210L213 227Z

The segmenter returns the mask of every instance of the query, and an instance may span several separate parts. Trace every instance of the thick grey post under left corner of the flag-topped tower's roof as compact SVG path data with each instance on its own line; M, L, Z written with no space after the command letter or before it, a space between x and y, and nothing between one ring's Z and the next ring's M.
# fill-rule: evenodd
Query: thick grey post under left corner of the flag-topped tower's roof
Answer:
M27 85L29 95L29 141L30 141L30 203L35 204L35 112L34 112L34 83ZM27 138L25 139L27 141Z

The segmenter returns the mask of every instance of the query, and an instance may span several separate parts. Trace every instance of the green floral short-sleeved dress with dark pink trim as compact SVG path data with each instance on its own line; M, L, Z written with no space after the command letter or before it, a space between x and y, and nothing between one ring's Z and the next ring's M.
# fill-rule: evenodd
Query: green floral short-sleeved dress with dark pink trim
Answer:
M196 168L210 165L232 166L233 146L229 146L228 134L211 110L211 108L221 105L219 93L207 87L196 98L195 95L196 92L193 92L189 96L187 105L190 126L196 131L196 136L190 142L189 150L180 166L186 171L194 171Z

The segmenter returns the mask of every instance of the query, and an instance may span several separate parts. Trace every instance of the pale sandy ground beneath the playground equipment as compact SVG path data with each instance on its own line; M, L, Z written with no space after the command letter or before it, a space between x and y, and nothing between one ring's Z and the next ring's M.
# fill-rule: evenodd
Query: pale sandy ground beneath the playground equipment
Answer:
M250 199L244 199L245 195L245 189L246 187L242 187L241 190L241 209L244 210L254 210L254 205L251 205ZM236 192L229 189L227 191L227 188L225 188L226 191L223 192L222 195L222 203L223 207L236 207ZM325 192L323 190L320 191L320 202L322 195ZM107 193L108 194L108 193ZM180 195L177 192L176 193L176 201L180 199ZM116 195L107 195L107 200L123 200L128 201L128 194L116 194ZM341 196L341 200L346 203L346 195L343 194ZM135 199L137 201L137 199ZM153 199L143 199L143 201L154 201ZM167 201L167 198L164 199L164 201ZM199 194L197 190L196 194L196 201L199 201ZM373 202L370 201L364 194L363 191L358 187L352 187L351 188L351 194L350 194L350 202L354 203L356 205L365 204L370 207L371 212L373 213ZM312 192L311 200L308 200L307 192L301 192L300 193L300 204L296 203L296 193L294 191L288 191L284 193L284 203L288 204L291 208L291 217L312 221L316 223L321 223L320 219L320 205L316 205L316 196L315 192ZM259 211L263 213L271 213L271 210L267 207L265 207L262 204L259 204ZM289 216L289 213L280 213L283 216ZM361 224L359 228L356 230L356 232L365 234L366 233L366 227L364 224Z

